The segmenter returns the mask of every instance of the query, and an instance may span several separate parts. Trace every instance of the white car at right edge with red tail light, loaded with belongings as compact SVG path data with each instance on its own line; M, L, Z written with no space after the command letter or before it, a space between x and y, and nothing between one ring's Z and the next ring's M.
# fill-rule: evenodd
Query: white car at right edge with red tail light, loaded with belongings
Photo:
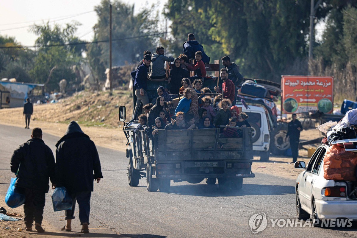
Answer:
M357 139L338 140L333 144L357 152ZM357 220L356 184L323 178L323 157L327 149L327 145L320 145L307 166L305 162L295 162L295 168L304 169L296 180L297 217L306 220L312 215L312 219L318 220L320 225L321 219Z

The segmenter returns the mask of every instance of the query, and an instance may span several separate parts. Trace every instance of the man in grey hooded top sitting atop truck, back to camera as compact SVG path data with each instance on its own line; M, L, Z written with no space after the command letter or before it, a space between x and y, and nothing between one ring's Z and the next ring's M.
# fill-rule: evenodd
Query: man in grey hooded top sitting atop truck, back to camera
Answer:
M161 82L166 80L166 72L164 68L165 61L171 62L175 59L172 57L168 57L164 55L164 47L157 46L156 54L152 54L151 56L151 64L150 64L150 74L149 78L152 81Z

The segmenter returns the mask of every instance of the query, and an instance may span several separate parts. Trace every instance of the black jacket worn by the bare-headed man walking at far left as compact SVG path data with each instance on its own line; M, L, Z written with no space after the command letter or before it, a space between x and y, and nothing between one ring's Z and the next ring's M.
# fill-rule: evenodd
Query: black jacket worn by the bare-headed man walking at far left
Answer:
M20 167L20 168L19 168ZM32 138L20 145L11 157L11 172L17 174L15 186L47 193L48 179L55 183L55 158L52 150L40 138Z

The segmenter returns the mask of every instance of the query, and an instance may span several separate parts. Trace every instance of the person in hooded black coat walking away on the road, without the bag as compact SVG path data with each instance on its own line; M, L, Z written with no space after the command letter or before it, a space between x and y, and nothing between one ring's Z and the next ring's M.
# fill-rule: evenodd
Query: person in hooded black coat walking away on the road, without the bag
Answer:
M65 187L72 198L72 209L65 211L67 225L62 230L71 230L77 201L81 232L88 233L93 180L99 183L103 178L97 149L74 121L70 122L66 134L57 142L56 147L56 186Z

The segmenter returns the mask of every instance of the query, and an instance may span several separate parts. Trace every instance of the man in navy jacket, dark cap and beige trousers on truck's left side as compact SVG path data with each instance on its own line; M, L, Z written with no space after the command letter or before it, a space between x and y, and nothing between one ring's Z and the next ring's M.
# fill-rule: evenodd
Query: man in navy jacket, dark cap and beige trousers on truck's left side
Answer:
M151 63L151 55L145 55L143 59L143 64L139 66L136 70L135 81L134 81L134 89L136 96L136 105L134 110L134 115L137 114L137 110L139 110L140 103L142 105L146 105L149 103L149 97L147 96L147 68L149 68ZM140 113L141 114L141 113Z

